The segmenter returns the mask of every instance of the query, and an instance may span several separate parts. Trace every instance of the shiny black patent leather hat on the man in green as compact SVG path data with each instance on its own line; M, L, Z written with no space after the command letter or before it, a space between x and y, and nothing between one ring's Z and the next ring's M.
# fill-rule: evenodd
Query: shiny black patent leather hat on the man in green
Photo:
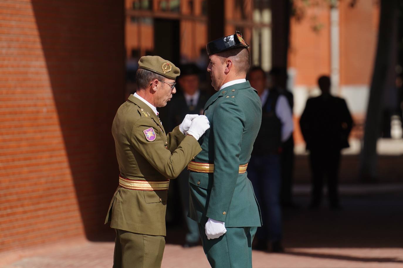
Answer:
M206 45L207 54L210 56L218 52L223 52L234 48L249 48L250 46L243 40L242 33L236 31L235 35L218 38L214 41L208 42Z

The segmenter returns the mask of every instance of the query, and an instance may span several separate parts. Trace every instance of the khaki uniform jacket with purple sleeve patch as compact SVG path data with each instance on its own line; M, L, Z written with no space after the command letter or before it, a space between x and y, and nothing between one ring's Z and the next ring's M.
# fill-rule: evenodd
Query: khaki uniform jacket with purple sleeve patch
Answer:
M153 129L152 138L145 130ZM152 109L130 95L113 120L112 135L120 176L139 181L176 178L201 147L179 126L168 135ZM118 176L116 176L116 180ZM168 190L131 190L118 186L105 223L110 227L146 235L166 235L165 212Z

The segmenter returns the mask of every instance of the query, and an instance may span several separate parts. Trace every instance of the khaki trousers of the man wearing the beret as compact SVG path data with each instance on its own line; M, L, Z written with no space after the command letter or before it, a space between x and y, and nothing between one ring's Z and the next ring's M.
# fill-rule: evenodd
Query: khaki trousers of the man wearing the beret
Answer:
M165 237L115 229L113 268L159 268Z

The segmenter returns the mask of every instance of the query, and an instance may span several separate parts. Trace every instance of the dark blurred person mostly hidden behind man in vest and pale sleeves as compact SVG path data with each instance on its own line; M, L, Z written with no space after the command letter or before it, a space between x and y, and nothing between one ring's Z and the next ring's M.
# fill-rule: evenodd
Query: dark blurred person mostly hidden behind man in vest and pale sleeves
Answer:
M291 108L291 113L294 106L294 96L287 89L287 70L285 68L274 67L270 70L268 76L270 91L275 90L287 98ZM283 208L297 208L293 202L293 170L294 170L294 137L293 133L287 140L281 144L281 191L280 203Z

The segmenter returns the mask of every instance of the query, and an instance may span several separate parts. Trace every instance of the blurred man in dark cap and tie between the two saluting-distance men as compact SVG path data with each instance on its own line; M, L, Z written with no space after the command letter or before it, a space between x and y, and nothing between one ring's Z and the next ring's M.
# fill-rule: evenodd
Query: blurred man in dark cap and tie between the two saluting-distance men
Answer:
M195 64L184 64L180 66L180 69L181 75L178 77L180 92L164 107L165 112L161 116L161 121L167 131L171 131L175 126L181 124L188 113L203 114L204 105L208 100L206 93L199 89L200 69ZM176 183L178 183L183 215L188 229L183 247L193 247L198 244L200 237L199 226L187 216L189 212L189 171L182 171Z

